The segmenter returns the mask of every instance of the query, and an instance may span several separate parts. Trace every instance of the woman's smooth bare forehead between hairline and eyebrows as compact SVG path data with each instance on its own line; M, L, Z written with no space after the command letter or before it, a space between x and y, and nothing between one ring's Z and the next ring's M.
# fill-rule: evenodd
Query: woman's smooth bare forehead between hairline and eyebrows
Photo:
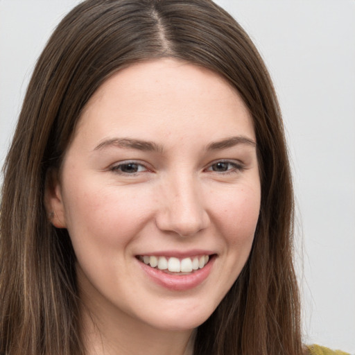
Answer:
M243 133L255 139L250 113L227 80L170 58L139 62L114 73L89 100L77 128L101 135L139 131L145 139L182 132L213 135L209 138L216 140L219 135Z

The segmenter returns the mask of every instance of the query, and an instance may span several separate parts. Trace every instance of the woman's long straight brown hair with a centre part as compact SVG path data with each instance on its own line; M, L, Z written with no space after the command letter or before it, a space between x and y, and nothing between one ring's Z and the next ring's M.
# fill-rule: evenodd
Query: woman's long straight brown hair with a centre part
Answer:
M58 168L80 112L122 67L173 57L226 78L250 110L261 211L252 252L194 355L300 355L293 269L293 189L282 118L250 38L210 0L87 0L60 22L28 86L4 166L0 214L0 353L85 354L76 257L67 230L49 223L46 177Z

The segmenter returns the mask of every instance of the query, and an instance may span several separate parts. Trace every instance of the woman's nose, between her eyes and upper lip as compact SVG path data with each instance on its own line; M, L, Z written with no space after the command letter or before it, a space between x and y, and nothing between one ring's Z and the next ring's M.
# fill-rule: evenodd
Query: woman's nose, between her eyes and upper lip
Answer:
M180 236L193 236L209 226L199 183L193 178L175 178L162 189L157 227Z

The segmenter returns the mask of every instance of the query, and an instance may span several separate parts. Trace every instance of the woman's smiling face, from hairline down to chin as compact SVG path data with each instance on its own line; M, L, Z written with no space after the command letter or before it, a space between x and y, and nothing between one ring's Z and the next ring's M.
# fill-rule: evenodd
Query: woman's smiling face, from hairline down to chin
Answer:
M87 103L47 196L96 318L193 329L250 254L261 196L250 114L212 71L133 64Z

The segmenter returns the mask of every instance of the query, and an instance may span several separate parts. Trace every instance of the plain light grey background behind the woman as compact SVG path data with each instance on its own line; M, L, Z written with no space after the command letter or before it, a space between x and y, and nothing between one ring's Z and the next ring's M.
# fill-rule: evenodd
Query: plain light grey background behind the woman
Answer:
M35 60L78 2L0 0L1 165ZM257 44L284 113L304 341L355 353L355 1L217 2Z

